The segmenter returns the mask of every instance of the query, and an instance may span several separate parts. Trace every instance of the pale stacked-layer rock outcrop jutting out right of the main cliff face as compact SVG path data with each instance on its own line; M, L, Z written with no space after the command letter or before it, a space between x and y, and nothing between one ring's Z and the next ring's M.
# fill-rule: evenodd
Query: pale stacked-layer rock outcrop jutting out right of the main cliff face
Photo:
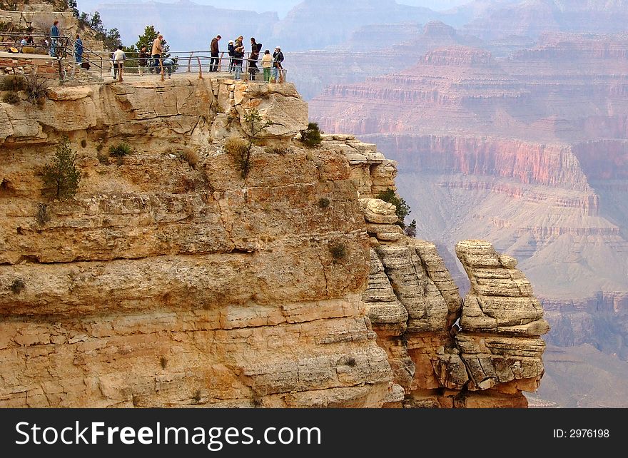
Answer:
M385 405L526 407L550 328L517 261L487 242L459 243L471 283L462 302L436 246L405 237L395 207L375 198L395 189L397 164L374 145L357 149L348 158L372 246L363 299L395 375Z

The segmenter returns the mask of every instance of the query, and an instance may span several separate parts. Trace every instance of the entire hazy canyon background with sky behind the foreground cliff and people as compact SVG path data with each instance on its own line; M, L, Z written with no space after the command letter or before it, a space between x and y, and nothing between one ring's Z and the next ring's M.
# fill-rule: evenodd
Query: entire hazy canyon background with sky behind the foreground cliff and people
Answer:
M540 402L628 406L628 0L86 1L125 44L255 36L328 133L399 161L418 237L515 256L552 332Z

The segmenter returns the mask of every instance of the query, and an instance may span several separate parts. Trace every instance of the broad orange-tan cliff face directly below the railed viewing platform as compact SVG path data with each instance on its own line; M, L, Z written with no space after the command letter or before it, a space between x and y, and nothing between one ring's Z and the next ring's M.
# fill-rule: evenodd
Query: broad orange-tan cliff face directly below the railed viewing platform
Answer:
M344 153L255 148L243 180L221 146L243 108L282 122L267 141L305 128L293 86L175 78L51 97L0 104L3 406L382 404L392 377L361 300L368 238ZM64 133L83 178L49 202L41 168ZM135 153L103 158L121 140Z

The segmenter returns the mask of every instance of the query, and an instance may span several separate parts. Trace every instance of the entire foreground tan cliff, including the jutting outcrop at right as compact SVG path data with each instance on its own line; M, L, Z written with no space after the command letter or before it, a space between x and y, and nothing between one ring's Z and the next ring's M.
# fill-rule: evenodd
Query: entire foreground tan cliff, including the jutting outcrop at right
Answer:
M294 141L293 86L129 79L0 103L1 405L525 405L547 329L514 260L461 244L461 307L434 245L375 199L395 163ZM273 125L242 178L225 141L253 108ZM66 201L41 178L62 136L82 175Z

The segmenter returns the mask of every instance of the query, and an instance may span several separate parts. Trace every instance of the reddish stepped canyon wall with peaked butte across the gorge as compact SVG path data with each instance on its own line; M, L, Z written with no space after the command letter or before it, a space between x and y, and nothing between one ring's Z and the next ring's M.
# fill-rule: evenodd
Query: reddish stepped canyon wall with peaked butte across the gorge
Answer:
M548 342L625 360L627 50L624 35L594 34L547 34L509 58L436 49L407 70L330 85L310 109L323 130L398 161L421 238L449 249L482 238L520 260Z

